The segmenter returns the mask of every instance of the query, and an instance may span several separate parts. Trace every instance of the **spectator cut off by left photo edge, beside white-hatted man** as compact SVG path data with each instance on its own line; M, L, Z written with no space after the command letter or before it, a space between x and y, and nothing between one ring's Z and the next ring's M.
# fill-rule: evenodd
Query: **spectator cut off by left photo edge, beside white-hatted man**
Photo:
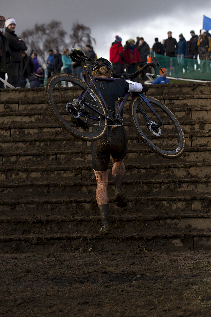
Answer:
M9 62L10 50L7 44L7 39L3 35L3 29L5 24L5 18L0 16L0 78L5 80L5 74L7 72L7 63ZM0 89L4 88L4 84L0 81Z

